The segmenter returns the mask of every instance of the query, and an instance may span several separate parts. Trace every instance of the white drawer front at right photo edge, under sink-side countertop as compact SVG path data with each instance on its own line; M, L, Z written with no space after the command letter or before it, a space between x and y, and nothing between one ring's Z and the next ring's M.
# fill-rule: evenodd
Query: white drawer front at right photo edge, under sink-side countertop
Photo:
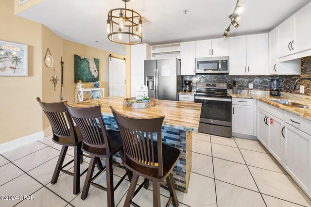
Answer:
M284 122L311 135L311 121L284 111Z

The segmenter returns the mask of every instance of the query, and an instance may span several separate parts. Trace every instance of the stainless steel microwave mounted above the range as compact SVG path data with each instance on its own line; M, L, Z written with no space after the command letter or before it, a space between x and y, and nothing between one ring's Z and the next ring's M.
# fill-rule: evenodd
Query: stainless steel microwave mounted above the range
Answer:
M229 73L229 57L196 58L195 73Z

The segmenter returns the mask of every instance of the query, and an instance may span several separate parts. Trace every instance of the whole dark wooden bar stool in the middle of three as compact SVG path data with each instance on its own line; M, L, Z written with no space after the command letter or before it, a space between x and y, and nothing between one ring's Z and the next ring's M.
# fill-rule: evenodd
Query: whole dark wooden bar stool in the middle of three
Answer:
M119 131L107 130L101 113L101 105L83 108L73 108L65 105L70 116L77 124L82 136L82 150L91 155L91 161L86 175L86 181L83 187L81 199L87 197L90 185L107 191L108 207L114 207L114 191L118 188L126 175L131 180L132 173L125 169L126 173L118 182L116 187L113 186L112 174L112 156L119 152L123 160L123 143ZM106 161L106 182L107 188L92 182L102 171L93 176L96 159L105 158Z

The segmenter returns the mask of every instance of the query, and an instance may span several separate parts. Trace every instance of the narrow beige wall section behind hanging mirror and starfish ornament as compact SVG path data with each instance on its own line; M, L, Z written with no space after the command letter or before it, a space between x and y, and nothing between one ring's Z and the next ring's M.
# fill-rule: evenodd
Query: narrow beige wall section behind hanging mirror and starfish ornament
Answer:
M48 48L50 49L54 62L52 67L47 67L43 61ZM63 39L42 25L42 100L44 102L60 101L61 56L63 56ZM54 85L50 81L54 75L54 68L56 76L59 80L55 91ZM42 114L42 120L43 129L50 126L49 120L44 113Z

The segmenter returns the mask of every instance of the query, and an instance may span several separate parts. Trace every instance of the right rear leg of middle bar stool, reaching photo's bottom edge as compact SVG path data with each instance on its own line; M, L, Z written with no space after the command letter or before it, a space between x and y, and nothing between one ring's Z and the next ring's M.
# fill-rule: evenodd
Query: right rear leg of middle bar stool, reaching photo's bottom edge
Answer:
M114 207L115 198L113 191L112 157L106 158L106 177L108 207Z

